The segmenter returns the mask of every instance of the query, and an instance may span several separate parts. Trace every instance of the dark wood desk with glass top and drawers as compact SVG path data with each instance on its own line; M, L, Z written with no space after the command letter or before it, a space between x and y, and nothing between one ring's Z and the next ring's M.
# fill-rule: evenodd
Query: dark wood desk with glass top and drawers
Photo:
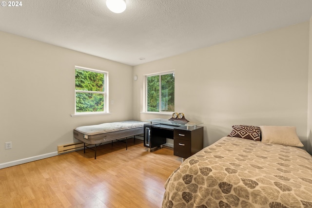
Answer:
M162 147L167 138L174 140L174 155L188 158L203 149L203 127L176 126L169 124L144 124L144 146Z

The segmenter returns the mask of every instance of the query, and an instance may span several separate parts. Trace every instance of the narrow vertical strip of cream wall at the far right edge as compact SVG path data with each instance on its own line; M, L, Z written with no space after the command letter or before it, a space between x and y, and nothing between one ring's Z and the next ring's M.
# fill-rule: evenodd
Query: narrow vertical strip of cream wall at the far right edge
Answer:
M309 89L308 89L308 144L307 149L312 154L312 17L310 19L309 42Z

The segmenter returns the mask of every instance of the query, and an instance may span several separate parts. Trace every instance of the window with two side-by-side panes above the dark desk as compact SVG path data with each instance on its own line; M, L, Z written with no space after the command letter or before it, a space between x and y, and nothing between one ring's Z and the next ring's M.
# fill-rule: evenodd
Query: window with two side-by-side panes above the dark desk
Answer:
M146 111L175 111L175 73L146 76Z

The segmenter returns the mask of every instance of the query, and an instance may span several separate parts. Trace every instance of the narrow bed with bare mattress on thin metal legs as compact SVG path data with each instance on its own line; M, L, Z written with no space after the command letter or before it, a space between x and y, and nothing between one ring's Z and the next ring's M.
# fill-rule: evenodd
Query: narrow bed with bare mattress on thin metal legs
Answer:
M113 140L124 138L127 150L127 137L135 137L136 135L142 134L144 124L146 124L146 122L135 120L102 123L77 127L74 129L73 133L76 139L84 143L83 152L85 152L86 148L92 149L95 151L94 158L97 159L97 147L104 142L113 142ZM90 147L90 145L92 145L92 147Z

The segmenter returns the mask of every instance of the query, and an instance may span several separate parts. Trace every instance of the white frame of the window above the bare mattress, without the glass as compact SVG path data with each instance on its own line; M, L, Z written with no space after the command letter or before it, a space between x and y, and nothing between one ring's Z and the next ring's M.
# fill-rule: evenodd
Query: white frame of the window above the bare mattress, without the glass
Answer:
M81 67L81 66L75 66L75 72L76 72L76 69L104 74L105 82L104 82L104 91L103 92L76 90L76 87L75 87L75 103L74 103L74 105L75 105L75 114L72 114L71 116L110 114L109 113L109 101L108 101L108 97L109 97L108 96L108 86L109 86L109 84L108 84L108 72L102 71L102 70L97 70L97 69ZM75 80L76 80L76 77L75 77ZM100 111L100 112L76 112L76 93L103 94L104 95L104 109L103 109L103 111Z

